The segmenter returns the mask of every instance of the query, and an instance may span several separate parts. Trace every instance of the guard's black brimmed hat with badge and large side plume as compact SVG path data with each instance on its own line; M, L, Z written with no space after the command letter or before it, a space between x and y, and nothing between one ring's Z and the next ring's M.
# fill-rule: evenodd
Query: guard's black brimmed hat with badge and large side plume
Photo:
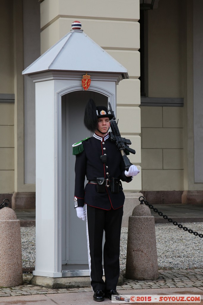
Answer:
M100 117L108 117L109 120L111 120L113 119L114 116L108 113L107 107L105 106L96 107L93 99L89 99L85 107L85 114L84 114L85 127L89 131L95 132L97 128L97 119Z

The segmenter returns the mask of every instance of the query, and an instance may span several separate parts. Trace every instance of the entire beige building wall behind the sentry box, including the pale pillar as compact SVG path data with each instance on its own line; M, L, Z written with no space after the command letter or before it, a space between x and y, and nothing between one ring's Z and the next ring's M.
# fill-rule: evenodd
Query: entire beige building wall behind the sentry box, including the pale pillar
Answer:
M24 183L22 4L1 2L0 93L14 93L15 104L0 103L0 193L35 191L34 184ZM40 9L41 53L80 20L84 32L128 69L130 78L117 86L117 117L136 150L131 162L142 164L143 174L128 191L203 190L203 184L194 183L193 1L161 0L148 12L149 97L184 98L184 107L140 108L142 163L139 1L86 5L80 0L69 7L65 0L45 0Z

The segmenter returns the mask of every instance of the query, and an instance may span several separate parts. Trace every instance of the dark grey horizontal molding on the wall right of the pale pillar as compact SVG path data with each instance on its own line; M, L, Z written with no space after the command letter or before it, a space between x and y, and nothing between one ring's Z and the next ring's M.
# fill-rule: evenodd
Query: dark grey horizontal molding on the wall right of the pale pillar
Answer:
M183 107L184 98L141 96L140 106Z

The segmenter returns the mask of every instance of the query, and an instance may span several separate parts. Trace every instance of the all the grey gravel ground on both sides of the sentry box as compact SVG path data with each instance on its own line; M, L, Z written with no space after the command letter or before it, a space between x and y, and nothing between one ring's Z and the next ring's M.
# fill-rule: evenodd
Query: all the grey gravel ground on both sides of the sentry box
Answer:
M203 223L185 223L188 229L203 234ZM159 269L189 269L203 266L203 238L173 224L155 224ZM121 272L125 272L128 228L121 230ZM35 227L21 227L23 267L35 266Z

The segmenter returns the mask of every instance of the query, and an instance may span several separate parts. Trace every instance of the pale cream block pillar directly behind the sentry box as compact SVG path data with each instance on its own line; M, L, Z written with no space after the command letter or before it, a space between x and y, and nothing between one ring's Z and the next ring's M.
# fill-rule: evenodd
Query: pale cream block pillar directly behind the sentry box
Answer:
M129 80L123 80L117 86L117 118L122 136L130 138L131 147L136 150L130 160L140 167L139 0L90 0L88 5L79 0L71 6L65 0L46 0L40 4L40 14L41 53L67 34L73 21L79 20L82 30L128 69ZM129 192L141 188L141 174L126 186Z

